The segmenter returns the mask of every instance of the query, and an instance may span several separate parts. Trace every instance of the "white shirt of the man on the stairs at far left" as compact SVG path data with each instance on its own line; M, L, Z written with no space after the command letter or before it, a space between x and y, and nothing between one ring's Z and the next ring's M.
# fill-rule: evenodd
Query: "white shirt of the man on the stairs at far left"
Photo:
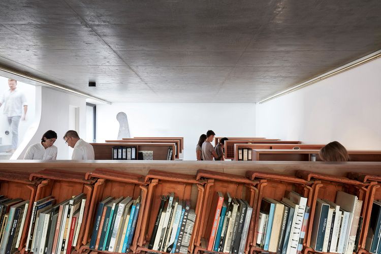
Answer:
M22 108L26 105L26 98L17 88L11 92L11 89L4 92L0 97L0 103L4 104L4 114L8 117L21 116Z

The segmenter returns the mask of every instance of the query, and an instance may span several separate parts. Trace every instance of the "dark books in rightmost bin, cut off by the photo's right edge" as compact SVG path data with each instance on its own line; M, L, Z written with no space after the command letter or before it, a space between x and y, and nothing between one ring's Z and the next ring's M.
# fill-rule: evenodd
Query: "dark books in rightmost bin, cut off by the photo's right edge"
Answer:
M376 254L381 253L381 201L373 201L371 209L365 249Z

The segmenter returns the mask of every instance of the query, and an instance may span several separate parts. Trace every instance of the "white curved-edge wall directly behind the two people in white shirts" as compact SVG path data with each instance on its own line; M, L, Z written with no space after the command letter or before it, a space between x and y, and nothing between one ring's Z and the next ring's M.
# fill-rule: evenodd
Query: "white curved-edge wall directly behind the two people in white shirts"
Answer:
M60 92L47 87L36 87L36 105L38 110L41 108L39 121L35 123L30 130L30 140L24 145L24 149L19 149L14 153L11 159L23 158L26 148L38 142L41 142L42 135L53 130L57 133L57 141L54 143L57 146L57 160L67 160L72 148L69 148L62 139L63 135L69 130L70 108L79 108L79 136L86 137L86 99L75 96L69 93ZM36 118L39 118L36 117Z

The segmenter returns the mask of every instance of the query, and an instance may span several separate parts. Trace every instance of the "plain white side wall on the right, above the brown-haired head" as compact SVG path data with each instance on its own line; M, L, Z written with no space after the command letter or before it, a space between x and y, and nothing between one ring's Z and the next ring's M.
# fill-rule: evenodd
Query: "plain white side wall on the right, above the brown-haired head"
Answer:
M257 104L257 136L381 149L381 58Z

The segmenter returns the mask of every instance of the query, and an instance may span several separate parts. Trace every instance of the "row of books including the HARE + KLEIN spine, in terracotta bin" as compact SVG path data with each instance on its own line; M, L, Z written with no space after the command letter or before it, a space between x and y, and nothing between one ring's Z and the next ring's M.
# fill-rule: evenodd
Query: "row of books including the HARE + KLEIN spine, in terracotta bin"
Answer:
M174 193L161 196L148 249L186 254L195 221L190 200L179 200Z

